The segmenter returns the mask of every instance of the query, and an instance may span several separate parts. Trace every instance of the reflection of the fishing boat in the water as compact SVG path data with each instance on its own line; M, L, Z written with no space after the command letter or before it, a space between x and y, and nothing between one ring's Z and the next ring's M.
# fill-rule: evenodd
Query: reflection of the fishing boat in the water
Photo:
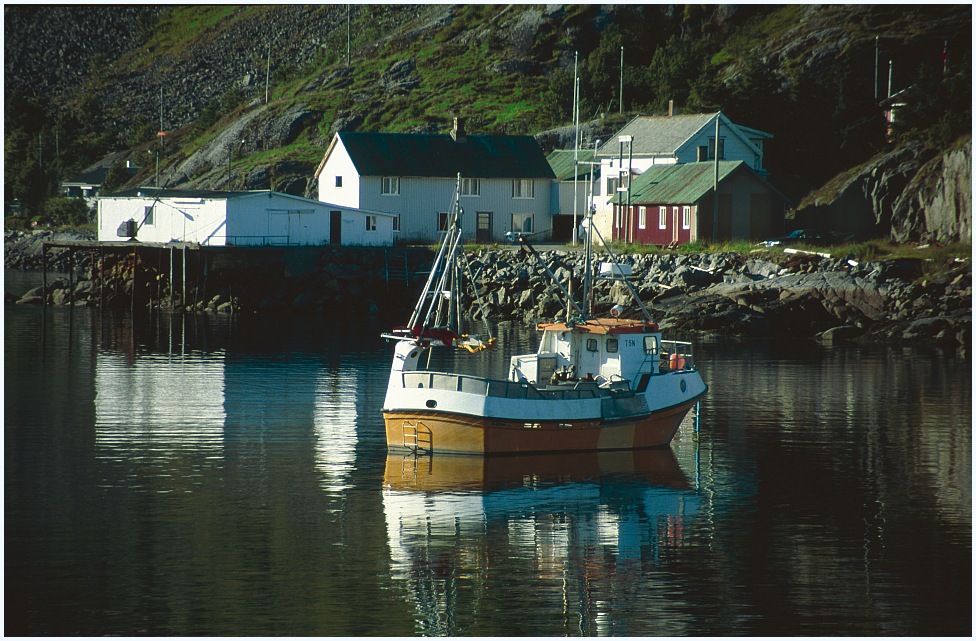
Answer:
M487 622L458 620L459 612L502 612L507 598L542 601L561 611L565 633L591 635L612 632L607 609L633 605L625 595L638 592L641 575L684 544L700 497L671 448L391 451L383 506L391 573L406 585L418 633L491 634ZM512 584L526 575L530 581ZM552 624L535 632L551 634Z

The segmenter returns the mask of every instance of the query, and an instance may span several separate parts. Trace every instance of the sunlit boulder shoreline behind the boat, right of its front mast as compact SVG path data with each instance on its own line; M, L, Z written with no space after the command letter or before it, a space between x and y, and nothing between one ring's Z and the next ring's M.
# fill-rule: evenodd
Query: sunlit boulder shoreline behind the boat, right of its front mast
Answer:
M582 255L540 255L557 279L571 280L579 291ZM816 254L643 254L618 260L631 267L631 287L652 318L673 335L916 344L963 355L972 342L968 260L952 260L928 278L922 261L858 263ZM508 252L483 252L472 267L481 270L479 294L490 318L560 313L558 292L546 287L542 270L531 263ZM597 312L620 304L623 316L638 317L622 283L602 280L595 289Z

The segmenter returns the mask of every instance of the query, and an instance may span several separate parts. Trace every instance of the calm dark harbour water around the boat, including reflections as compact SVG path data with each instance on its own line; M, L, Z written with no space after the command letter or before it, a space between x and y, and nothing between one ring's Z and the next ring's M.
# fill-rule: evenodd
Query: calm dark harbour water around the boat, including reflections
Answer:
M414 459L383 320L4 323L7 635L972 631L969 360L710 342L670 450Z

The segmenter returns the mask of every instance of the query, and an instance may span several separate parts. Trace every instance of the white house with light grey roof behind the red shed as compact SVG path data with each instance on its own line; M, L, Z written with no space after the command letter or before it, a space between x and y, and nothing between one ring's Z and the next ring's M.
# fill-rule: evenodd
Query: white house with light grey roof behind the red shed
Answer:
M715 160L715 125L718 122L718 159L742 161L765 177L763 145L772 138L757 129L736 125L722 112L669 116L637 116L596 153L600 161L603 194L596 205L595 223L604 238L613 231L614 196L626 189L628 172L634 177L655 165L674 165ZM626 192L619 192L626 198Z

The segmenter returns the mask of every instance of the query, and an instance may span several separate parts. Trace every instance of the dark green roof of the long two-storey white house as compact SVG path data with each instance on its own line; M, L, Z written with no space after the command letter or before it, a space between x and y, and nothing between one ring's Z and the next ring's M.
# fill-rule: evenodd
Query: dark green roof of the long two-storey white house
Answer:
M555 175L532 136L339 132L360 176L548 178Z

